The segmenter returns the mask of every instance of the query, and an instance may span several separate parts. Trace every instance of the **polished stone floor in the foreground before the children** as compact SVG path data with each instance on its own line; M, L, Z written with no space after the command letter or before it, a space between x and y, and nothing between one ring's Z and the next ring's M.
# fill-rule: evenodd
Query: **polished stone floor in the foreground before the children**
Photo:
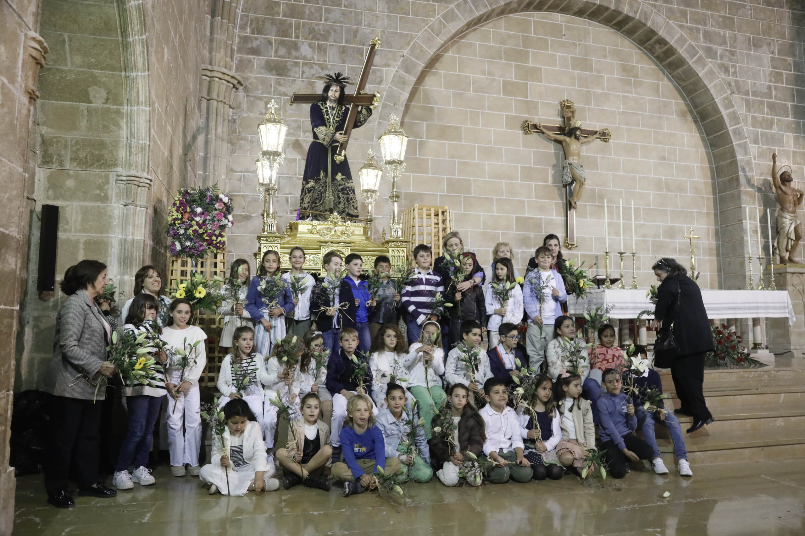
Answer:
M17 484L14 534L805 534L805 460L694 467L694 477L658 477L635 467L617 488L576 477L530 484L448 489L409 484L410 505L395 511L373 494L344 498L310 489L255 497L209 496L198 479L158 468L157 484L113 499L76 497L76 507L44 501L41 476ZM663 493L671 493L663 498Z

